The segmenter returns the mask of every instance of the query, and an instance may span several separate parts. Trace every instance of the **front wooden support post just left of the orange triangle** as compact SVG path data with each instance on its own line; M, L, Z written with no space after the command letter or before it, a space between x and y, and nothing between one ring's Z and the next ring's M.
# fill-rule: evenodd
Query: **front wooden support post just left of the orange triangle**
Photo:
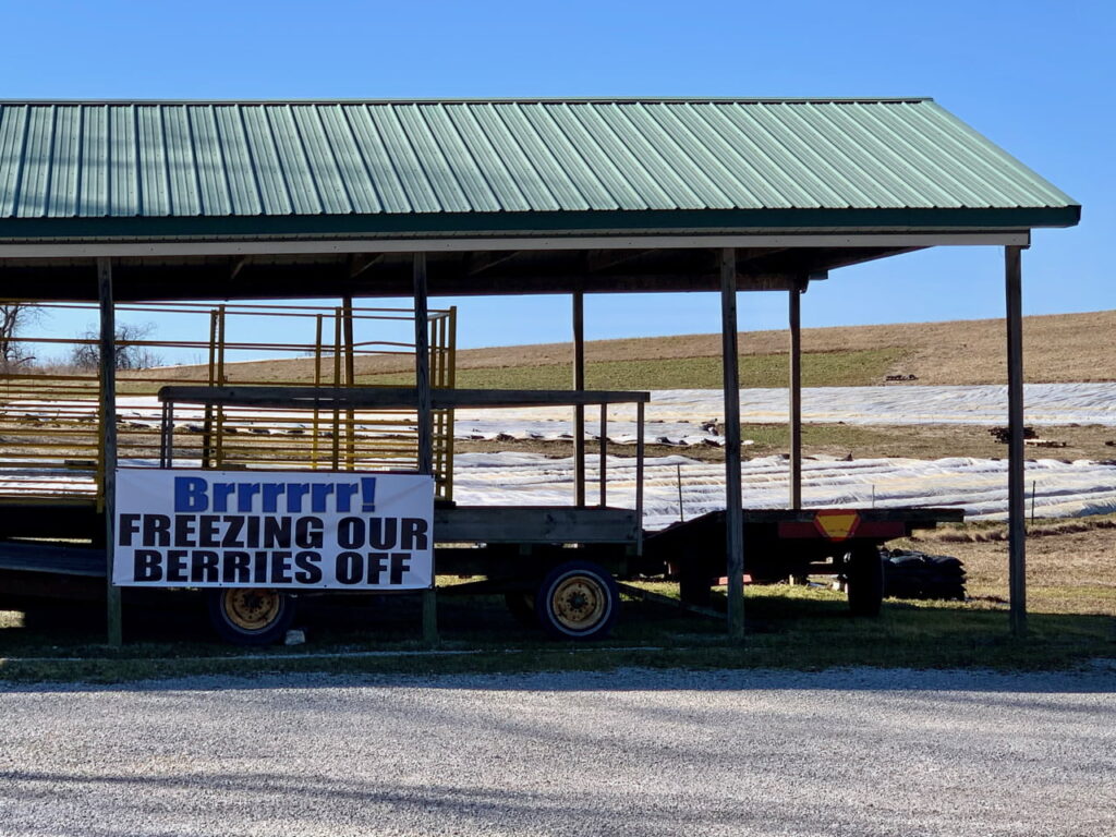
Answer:
M740 484L740 371L737 359L737 251L721 250L721 364L724 372L725 569L729 636L744 638L744 525Z

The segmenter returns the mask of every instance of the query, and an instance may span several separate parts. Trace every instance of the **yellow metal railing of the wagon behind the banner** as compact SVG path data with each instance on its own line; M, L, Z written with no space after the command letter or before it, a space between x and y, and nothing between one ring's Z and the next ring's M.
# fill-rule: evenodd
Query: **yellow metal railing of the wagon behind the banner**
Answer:
M8 304L12 305L12 304ZM26 304L18 304L26 305ZM0 310L6 304L0 301ZM36 304L0 337L0 498L102 499L96 306ZM456 312L430 311L434 387L454 386ZM117 459L158 466L167 385L414 384L414 312L402 308L192 302L116 306ZM151 320L151 323L137 320ZM199 337L200 336L200 337ZM162 356L189 363L164 365ZM179 455L206 469L410 470L414 411L246 410L209 405L181 416ZM452 411L434 414L440 497L451 498Z

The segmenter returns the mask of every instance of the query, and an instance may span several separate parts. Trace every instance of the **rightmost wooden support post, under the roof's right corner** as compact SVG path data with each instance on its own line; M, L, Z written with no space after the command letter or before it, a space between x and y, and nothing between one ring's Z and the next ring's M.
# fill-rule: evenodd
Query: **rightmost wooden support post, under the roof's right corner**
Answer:
M1022 248L1004 248L1008 301L1008 588L1011 633L1027 633L1027 518L1023 478Z

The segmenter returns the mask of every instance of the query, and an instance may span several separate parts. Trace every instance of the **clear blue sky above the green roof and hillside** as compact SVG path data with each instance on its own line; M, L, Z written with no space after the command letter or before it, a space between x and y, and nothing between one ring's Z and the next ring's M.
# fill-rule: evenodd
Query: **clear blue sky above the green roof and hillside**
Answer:
M4 0L2 20L6 98L933 96L1084 205L1033 237L1024 311L1116 308L1116 3ZM1002 288L1000 251L939 249L835 271L802 318L998 317ZM460 300L461 343L568 339L556 306ZM742 295L741 327L785 309ZM708 294L586 302L590 338L719 325Z

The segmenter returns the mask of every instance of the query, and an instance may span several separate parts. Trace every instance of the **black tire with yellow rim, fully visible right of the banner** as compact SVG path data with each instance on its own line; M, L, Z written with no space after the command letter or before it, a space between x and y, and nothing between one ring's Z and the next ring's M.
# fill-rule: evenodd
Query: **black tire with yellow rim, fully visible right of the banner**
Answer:
M619 615L620 591L612 574L593 561L568 561L550 570L535 596L535 613L558 639L600 639Z

